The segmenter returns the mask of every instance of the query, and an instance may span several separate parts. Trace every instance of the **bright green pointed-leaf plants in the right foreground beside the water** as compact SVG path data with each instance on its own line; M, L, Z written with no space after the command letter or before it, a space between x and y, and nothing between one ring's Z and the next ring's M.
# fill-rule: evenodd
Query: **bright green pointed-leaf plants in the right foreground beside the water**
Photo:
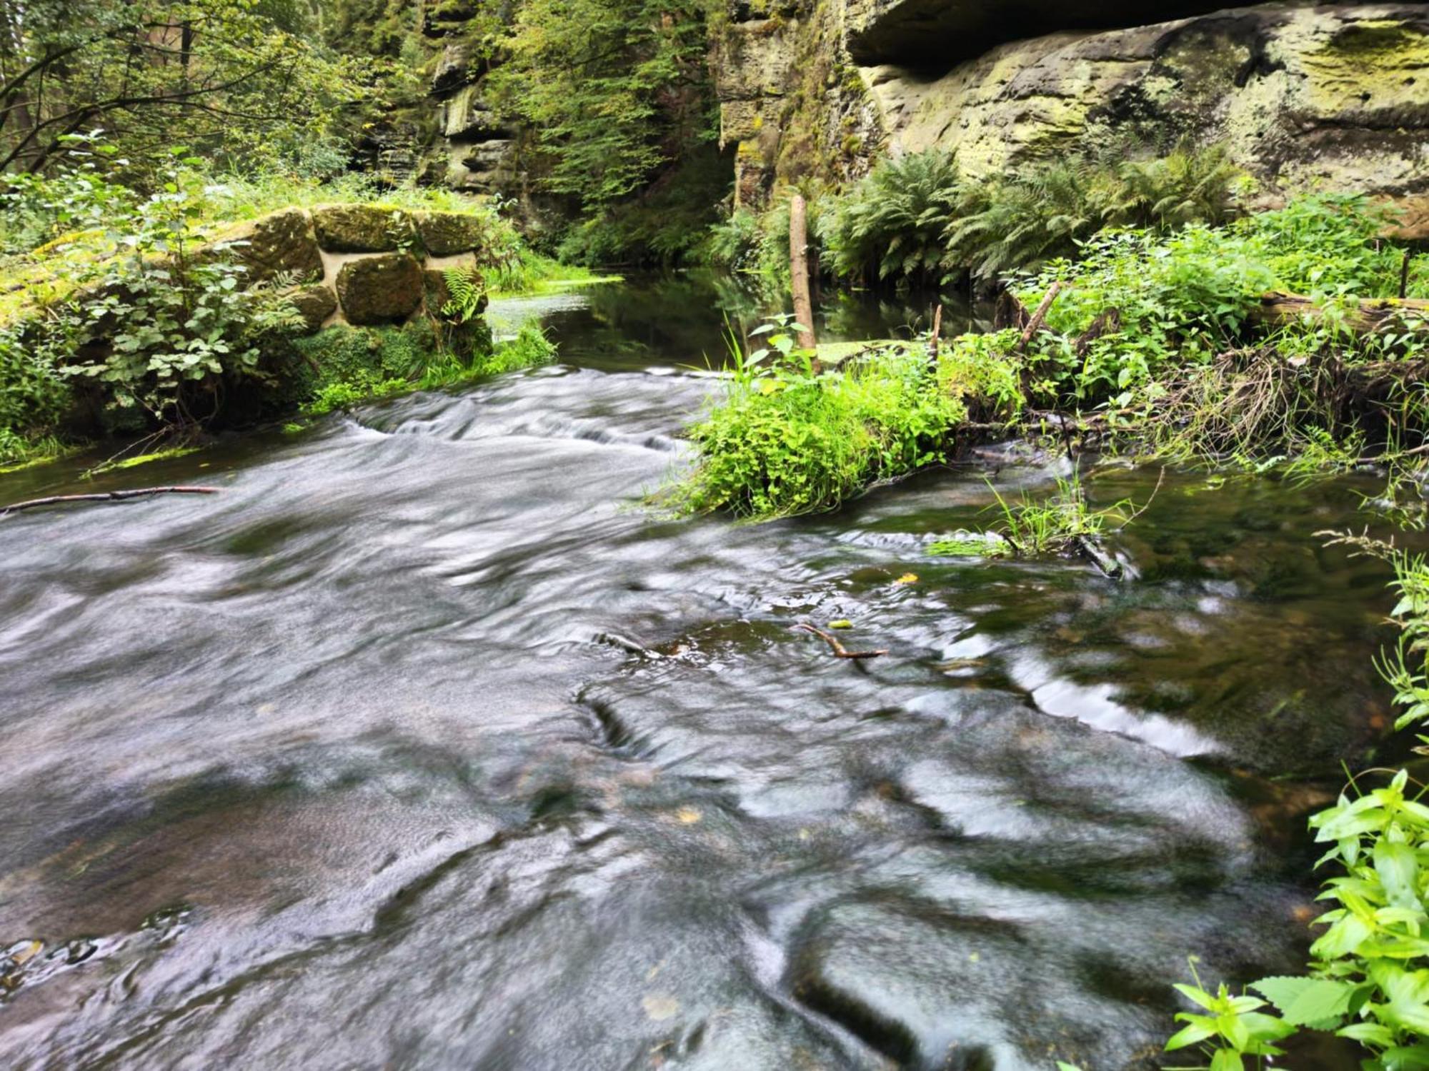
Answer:
M1402 635L1380 673L1402 708L1398 727L1429 718L1429 565L1385 548L1395 564ZM1429 737L1420 737L1429 744ZM1425 751L1423 747L1419 748ZM1369 777L1363 774L1360 780ZM1328 1031L1368 1051L1365 1071L1429 1068L1429 805L1409 771L1388 785L1362 790L1350 781L1335 807L1310 818L1329 851L1316 864L1333 868L1320 900L1330 904L1310 945L1309 974L1263 978L1249 988L1265 997L1232 997L1177 985L1202 1012L1182 1012L1186 1028L1167 1048L1196 1047L1213 1071L1256 1065L1276 1055L1275 1042L1300 1030ZM1266 1004L1266 1001L1269 1004ZM1262 1011L1273 1005L1279 1017Z

